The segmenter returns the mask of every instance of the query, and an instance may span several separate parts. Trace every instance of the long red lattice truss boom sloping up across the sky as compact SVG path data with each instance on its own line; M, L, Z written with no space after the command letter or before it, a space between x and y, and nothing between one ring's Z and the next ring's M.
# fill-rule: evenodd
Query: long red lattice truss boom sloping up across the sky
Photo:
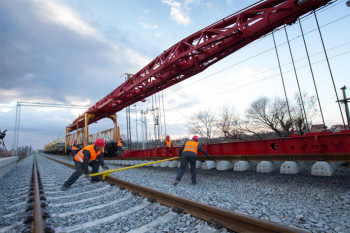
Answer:
M117 87L86 113L88 124L196 75L221 59L331 0L264 0L181 40ZM306 3L305 3L306 2ZM67 128L83 128L84 114ZM78 126L78 127L77 127Z

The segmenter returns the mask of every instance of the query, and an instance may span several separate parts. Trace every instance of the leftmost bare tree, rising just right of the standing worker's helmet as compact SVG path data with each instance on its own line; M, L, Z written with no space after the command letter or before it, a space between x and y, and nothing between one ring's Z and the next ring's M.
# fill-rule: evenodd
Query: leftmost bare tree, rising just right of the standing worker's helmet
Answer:
M191 116L188 131L198 134L205 143L212 143L218 130L215 112L211 109L200 111Z

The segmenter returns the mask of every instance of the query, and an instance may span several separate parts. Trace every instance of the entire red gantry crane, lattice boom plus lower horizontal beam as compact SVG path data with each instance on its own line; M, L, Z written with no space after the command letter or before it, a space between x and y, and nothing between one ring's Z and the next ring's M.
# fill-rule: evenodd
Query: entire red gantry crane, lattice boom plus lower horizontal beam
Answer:
M144 98L192 77L249 43L292 24L307 13L324 7L332 0L263 0L238 11L181 40L132 75L122 85L78 117L66 132L85 127L103 118L115 124L113 138L119 138L116 112ZM82 131L80 131L82 133ZM73 135L74 136L74 135ZM211 160L261 161L349 161L350 131L318 132L290 138L216 143L205 145ZM66 137L68 139L68 137ZM115 139L114 139L115 140ZM68 143L67 143L68 144ZM67 149L66 144L66 149ZM164 158L177 155L179 148L154 148L127 151L126 157ZM124 157L123 156L123 157Z

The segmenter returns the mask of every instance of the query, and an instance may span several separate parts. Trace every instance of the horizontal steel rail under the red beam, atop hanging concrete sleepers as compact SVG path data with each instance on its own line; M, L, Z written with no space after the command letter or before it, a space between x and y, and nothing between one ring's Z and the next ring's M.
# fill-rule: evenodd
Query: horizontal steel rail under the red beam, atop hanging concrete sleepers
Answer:
M169 156L164 157L123 157L121 158L104 158L104 160L162 160L171 158ZM214 155L210 157L197 156L197 160L232 160L232 161L329 161L329 162L350 162L349 154L312 154L312 155Z

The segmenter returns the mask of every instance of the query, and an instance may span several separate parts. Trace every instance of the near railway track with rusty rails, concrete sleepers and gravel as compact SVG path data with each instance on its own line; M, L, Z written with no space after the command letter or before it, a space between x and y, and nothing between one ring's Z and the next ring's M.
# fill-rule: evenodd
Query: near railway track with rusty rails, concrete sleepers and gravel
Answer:
M43 208L46 232L50 228L55 232L200 232L208 223L235 232L304 232L113 177L107 178L109 184L91 184L81 177L68 192L61 192L58 190L72 169L41 156L37 160L41 174L39 181L46 198L42 201L48 205ZM21 180L23 185L12 193L11 206L6 206L14 214L0 216L0 232L29 229L28 222L27 225L24 222L29 217L25 209L29 205L26 201L31 183L28 169L22 170L27 180ZM173 208L175 206L177 208ZM7 219L6 224L4 219ZM31 229L34 229L33 226ZM221 231L225 232L223 228Z

